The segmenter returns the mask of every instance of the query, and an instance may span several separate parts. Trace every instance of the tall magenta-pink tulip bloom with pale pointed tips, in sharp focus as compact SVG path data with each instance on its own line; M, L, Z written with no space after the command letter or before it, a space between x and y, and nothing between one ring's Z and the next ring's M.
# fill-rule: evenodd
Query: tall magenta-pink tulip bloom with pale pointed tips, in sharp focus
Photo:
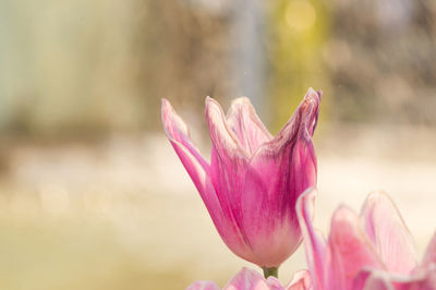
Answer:
M310 88L276 137L247 98L233 100L227 117L206 98L210 162L191 141L187 126L162 100L162 122L220 237L238 256L278 267L299 246L296 198L316 183L312 144L322 93Z

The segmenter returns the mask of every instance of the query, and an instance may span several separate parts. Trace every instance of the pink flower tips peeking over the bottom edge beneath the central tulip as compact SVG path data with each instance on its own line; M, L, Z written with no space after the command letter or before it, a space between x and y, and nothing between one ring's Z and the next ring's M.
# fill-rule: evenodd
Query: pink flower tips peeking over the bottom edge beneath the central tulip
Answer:
M307 270L298 271L288 286L270 276L265 279L261 274L249 268L242 268L223 288L223 290L312 290ZM219 290L213 281L196 281L186 290Z

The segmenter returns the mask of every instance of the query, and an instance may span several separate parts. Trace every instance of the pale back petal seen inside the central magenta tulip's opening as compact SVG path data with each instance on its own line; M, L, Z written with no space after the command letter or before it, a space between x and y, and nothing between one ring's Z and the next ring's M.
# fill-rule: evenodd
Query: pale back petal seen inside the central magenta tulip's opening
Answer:
M227 123L250 155L263 143L272 138L249 98L242 97L232 101L227 114Z

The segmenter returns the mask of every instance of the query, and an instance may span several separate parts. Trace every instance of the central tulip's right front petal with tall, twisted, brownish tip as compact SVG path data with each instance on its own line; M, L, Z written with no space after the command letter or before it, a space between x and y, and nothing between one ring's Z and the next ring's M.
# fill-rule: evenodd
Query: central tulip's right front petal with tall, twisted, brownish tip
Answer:
M279 266L300 244L295 203L316 184L311 136L319 99L320 94L310 89L291 120L278 136L259 147L246 169L241 191L242 225L255 255L269 263L262 266Z

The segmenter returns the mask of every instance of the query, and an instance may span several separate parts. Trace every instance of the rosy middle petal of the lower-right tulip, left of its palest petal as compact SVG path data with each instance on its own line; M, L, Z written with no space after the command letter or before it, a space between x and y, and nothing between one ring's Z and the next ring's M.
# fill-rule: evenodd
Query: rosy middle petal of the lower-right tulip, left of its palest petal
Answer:
M328 242L334 289L351 289L353 279L364 267L384 268L358 215L346 206L340 206L331 218Z

